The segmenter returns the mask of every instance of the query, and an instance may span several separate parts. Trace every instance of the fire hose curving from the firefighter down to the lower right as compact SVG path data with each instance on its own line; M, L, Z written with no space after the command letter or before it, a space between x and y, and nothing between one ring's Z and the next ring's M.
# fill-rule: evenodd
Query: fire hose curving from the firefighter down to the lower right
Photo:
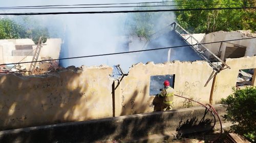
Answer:
M217 113L217 111L215 110L214 107L212 107L210 104L204 105L204 104L202 104L202 103L200 103L200 102L198 102L198 101L195 101L195 100L193 100L193 99L189 99L189 98L186 98L186 97L178 96L178 95L176 95L176 94L174 94L174 96L180 97L180 98L184 98L184 99L187 99L187 100L190 100L190 101L194 101L194 102L196 102L196 103L202 105L202 106L205 107L206 109L208 109L207 112L210 111L211 114L214 116L214 126L212 126L211 129L213 129L213 128L215 127L215 124L216 124L216 117L215 117L215 114L216 114L217 117L218 117L218 120L219 120L219 122L220 122L221 132L220 132L220 134L218 135L218 137L216 137L214 140L211 140L210 142L215 142L215 141L217 141L217 140L220 138L220 136L221 136L221 134L222 134L222 124L221 124L220 116L218 115L218 113ZM207 107L207 106L209 106L209 107ZM211 109L212 109L212 110L211 110Z

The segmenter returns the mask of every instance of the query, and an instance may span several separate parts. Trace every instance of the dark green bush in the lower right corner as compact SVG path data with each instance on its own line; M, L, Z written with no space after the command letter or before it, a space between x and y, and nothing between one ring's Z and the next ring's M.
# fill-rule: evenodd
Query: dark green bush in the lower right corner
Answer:
M221 100L226 107L225 120L232 122L231 129L256 141L256 86L234 89L233 94Z

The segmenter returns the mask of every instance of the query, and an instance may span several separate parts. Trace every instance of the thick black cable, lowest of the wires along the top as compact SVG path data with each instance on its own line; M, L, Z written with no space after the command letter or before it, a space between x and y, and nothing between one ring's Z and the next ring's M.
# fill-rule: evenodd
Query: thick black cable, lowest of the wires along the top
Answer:
M80 11L80 12L35 12L35 13L0 13L0 15L108 14L108 13L138 13L138 12L168 12L168 11L201 11L201 10L230 10L230 9L255 9L255 8L256 8L256 7L195 8L195 9L163 9L163 10L124 10L124 11Z

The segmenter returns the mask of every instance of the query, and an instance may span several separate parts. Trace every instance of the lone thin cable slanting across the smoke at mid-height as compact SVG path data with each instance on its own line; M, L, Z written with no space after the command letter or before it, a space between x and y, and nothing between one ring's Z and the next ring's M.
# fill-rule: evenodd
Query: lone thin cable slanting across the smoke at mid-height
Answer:
M200 43L200 44L211 44L211 43L220 43L220 42L228 42L228 41L238 41L238 40L246 40L246 39L253 39L253 38L256 38L256 37L244 38L244 39L223 40L223 41L207 42L207 43ZM137 53L137 52L145 52L145 51L155 51L155 50L171 49L171 48L175 48L175 47L194 46L194 45L199 45L199 43L197 43L197 44L190 44L190 45L179 45L179 46L161 47L161 48L157 48L157 49L130 51L130 52L119 52L119 53L110 53L110 54L99 54L99 55L90 55L90 56L59 58L59 59L40 60L40 61L31 61L31 62L8 63L8 64L0 64L0 65L10 65L10 64L22 64L22 63L34 63L34 62L46 62L46 61L55 61L55 60L68 60L68 59L78 59L78 58L109 56L109 55L118 55L118 54L127 54L127 53Z

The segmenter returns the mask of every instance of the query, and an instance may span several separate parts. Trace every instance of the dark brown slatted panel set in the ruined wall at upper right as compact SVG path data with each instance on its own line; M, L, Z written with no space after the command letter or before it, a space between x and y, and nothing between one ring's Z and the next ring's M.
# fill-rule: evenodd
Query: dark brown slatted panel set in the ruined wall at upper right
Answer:
M246 47L227 46L224 59L226 58L241 58L244 57Z

